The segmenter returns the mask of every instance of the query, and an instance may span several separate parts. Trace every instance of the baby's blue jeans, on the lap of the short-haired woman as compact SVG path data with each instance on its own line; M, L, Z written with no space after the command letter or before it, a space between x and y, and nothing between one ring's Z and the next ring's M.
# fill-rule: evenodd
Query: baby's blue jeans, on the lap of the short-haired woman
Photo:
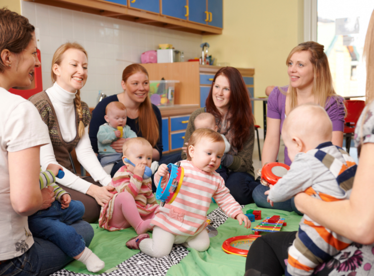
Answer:
M66 255L75 257L86 247L84 239L70 226L81 220L84 205L72 200L66 209L61 209L61 203L55 201L46 210L41 210L28 219L29 229L34 237L52 241Z

